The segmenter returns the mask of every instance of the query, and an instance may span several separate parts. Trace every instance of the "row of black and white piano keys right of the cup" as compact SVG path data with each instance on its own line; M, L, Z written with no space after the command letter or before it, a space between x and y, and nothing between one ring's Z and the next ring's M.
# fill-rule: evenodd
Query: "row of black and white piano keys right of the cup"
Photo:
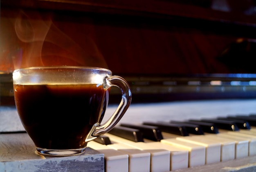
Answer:
M91 141L88 147L104 153L106 172L174 171L256 157L255 121L256 115L251 114L225 119L122 122L104 135L110 142Z

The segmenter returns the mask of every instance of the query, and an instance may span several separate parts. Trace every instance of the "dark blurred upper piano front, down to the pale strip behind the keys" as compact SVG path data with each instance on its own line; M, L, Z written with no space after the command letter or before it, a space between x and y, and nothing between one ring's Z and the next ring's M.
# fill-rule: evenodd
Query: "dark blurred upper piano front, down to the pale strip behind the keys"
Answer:
M255 0L0 3L0 72L4 75L38 65L37 55L28 58L32 43L16 35L15 23L21 18L26 21L21 23L25 34L29 22L52 22L50 30L57 36L48 33L50 41L40 40L45 65L109 68L128 80L134 102L256 97L255 85L248 84L256 80L255 75L229 75L256 73ZM66 37L72 44L63 43ZM2 78L1 82L8 81ZM212 86L212 80L222 84ZM232 87L234 80L244 83ZM189 81L200 82L189 85ZM7 92L2 90L1 95L12 95Z

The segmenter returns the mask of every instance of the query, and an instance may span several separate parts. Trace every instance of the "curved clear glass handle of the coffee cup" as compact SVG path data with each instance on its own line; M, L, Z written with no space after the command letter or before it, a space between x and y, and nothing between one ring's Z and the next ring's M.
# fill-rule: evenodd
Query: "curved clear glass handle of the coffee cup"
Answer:
M110 76L105 77L103 82L103 88L108 89L111 86L117 86L120 88L122 93L122 99L119 103L119 106L113 113L113 115L103 124L100 124L99 122L95 123L92 126L92 129L90 130L88 136L86 137L85 141L92 141L96 139L97 137L104 135L108 131L110 131L124 116L124 113L130 106L131 100L132 100L132 93L130 91L130 86L128 83L119 76Z

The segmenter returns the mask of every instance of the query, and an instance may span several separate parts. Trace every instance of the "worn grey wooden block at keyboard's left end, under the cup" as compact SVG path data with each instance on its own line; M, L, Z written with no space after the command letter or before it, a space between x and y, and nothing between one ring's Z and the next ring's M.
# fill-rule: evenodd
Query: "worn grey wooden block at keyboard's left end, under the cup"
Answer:
M39 155L27 133L0 135L0 172L104 171L104 155L91 148L78 156Z

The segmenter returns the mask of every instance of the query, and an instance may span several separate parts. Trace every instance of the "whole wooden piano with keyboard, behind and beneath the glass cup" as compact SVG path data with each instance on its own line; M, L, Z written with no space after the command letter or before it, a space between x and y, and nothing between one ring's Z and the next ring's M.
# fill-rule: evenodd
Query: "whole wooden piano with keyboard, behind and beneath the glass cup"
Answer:
M0 3L0 171L256 170L253 0ZM11 73L41 62L110 68L131 87L124 117L85 154L39 156L24 132ZM112 89L103 121L119 99Z

